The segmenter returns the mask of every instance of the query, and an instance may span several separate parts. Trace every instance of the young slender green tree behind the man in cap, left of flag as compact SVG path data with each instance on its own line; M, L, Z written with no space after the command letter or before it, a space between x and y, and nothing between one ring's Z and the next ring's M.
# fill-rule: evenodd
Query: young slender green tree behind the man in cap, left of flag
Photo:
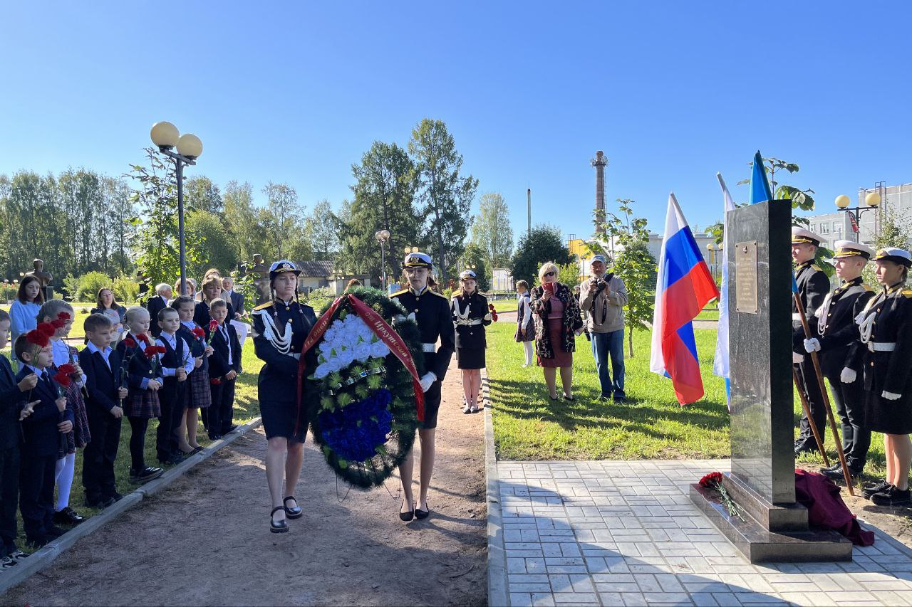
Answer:
M633 333L652 322L656 296L656 259L648 250L649 230L643 217L633 214L635 202L617 199L617 213L607 213L601 224L606 237L615 242L615 255L610 271L627 286L627 349L633 358ZM598 234L596 226L596 235ZM607 255L594 237L587 242L592 252ZM610 257L610 255L608 255Z

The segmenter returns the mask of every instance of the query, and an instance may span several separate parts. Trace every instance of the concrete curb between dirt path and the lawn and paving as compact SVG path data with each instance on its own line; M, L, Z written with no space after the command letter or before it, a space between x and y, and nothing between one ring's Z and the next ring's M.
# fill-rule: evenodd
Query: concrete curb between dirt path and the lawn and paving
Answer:
M488 506L488 605L505 607L510 604L507 597L507 560L503 547L500 483L497 478L491 385L488 383L487 369L482 373L482 398L484 400L484 471L487 481L485 501Z

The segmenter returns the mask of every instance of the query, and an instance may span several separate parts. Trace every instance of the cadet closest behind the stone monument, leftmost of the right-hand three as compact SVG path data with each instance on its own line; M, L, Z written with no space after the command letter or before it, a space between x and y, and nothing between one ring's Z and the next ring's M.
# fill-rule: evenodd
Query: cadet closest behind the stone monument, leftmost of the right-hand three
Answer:
M824 304L826 293L830 292L830 279L826 273L814 264L814 256L817 254L817 247L820 246L820 236L813 231L804 230L803 228L792 228L792 259L795 262L795 282L798 284L798 294L804 304L804 314L808 324L810 324L812 337L816 336L816 319L817 308ZM810 356L804 355L803 341L805 338L804 329L802 328L801 318L798 316L798 310L792 303L792 328L793 328L793 364L798 366L798 376L802 379L804 394L807 395L808 408L811 409L811 416L814 417L814 424L820 432L821 441L825 440L824 424L826 423L826 409L824 409L824 396L820 392L820 385L817 383L817 374L814 371L814 363ZM814 440L814 433L811 431L811 425L802 415L801 433L798 440L795 441L795 455L802 453L813 453L817 450L817 443Z

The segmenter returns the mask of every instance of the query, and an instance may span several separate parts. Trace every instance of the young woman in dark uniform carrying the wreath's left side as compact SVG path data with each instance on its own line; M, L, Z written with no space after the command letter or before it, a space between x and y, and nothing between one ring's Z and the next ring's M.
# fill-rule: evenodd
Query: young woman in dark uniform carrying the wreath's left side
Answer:
M260 416L266 432L266 480L273 501L269 530L284 533L285 519L298 519L301 508L295 500L295 485L301 474L306 422L295 427L298 417L298 361L307 334L316 324L314 309L297 302L297 276L292 262L275 262L269 269L273 301L254 308L254 351L265 365L257 383ZM308 360L308 367L315 361ZM302 404L302 406L304 406ZM306 415L302 412L301 419ZM285 491L282 478L285 475Z

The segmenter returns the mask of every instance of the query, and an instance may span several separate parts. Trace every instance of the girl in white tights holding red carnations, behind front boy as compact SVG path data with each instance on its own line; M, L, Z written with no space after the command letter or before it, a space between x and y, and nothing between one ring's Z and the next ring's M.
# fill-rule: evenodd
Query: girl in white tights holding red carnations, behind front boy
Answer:
M73 487L73 478L76 476L76 449L84 448L92 439L88 427L86 403L82 397L81 388L85 385L86 376L78 363L78 350L67 345L64 340L73 328L73 306L62 299L50 299L41 305L38 310L38 330L45 327L45 331L53 333L48 335L51 345L52 364L49 369L51 376L56 376L58 371L62 376L71 379L67 386L57 384L57 390L66 396L70 406L73 407L73 430L67 433L66 448L61 444L60 453L57 455L57 504L54 512L54 523L57 525L73 526L85 520L79 513L70 508L69 494ZM87 504L90 506L90 504Z

